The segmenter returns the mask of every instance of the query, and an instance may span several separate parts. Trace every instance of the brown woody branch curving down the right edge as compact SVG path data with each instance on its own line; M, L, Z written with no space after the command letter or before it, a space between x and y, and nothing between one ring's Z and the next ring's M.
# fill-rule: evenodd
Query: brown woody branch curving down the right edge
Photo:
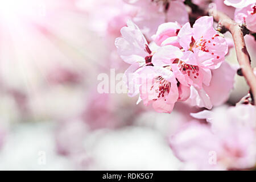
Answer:
M234 46L236 48L237 60L242 69L242 75L245 77L247 84L251 88L253 98L256 98L256 77L250 65L250 56L247 52L245 39L243 38L244 32L238 23L234 22L228 15L221 13L217 10L209 10L209 14L213 16L214 20L225 27L233 36Z

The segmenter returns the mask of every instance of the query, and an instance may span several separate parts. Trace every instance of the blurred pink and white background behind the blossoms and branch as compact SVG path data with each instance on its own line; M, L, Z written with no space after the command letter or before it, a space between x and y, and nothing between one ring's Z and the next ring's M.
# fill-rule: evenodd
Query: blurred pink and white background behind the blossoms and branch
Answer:
M0 169L180 169L167 138L199 108L156 113L137 97L97 92L98 74L128 67L114 47L127 9L114 0L0 1ZM245 39L255 66L254 38ZM234 48L226 60L237 65ZM236 76L226 105L247 90Z

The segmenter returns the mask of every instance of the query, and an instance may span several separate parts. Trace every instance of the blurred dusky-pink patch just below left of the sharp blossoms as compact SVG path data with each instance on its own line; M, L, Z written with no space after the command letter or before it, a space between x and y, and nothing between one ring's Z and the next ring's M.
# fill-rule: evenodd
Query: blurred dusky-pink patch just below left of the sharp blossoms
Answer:
M84 109L77 116L90 130L101 128L116 129L129 125L143 112L141 106L134 107L134 102L127 96L115 97L115 94L98 93L90 90Z

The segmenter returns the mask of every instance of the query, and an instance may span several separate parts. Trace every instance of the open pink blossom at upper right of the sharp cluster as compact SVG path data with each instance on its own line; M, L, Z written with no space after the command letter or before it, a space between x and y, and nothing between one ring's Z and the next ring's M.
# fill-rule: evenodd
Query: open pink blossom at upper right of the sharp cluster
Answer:
M211 16L197 19L192 28L189 23L184 24L177 36L180 46L184 51L193 52L197 65L201 67L209 69L220 67L228 52L228 44L214 30Z

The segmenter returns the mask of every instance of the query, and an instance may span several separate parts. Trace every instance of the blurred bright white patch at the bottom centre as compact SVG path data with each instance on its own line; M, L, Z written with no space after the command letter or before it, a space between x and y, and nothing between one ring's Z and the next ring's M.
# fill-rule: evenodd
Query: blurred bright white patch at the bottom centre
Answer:
M98 131L90 137L88 140L93 147L89 155L94 158L90 169L177 170L180 167L167 140L158 131L130 126Z

